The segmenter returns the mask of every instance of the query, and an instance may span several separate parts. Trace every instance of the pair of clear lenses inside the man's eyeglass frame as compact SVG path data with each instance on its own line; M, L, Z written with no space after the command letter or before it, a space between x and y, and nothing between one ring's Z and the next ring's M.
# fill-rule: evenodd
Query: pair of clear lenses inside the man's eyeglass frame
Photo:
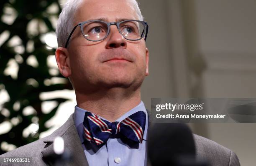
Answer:
M101 40L108 35L108 24L100 21L91 21L82 26L83 35L88 40ZM119 31L128 40L141 39L144 25L138 21L124 21L119 25Z

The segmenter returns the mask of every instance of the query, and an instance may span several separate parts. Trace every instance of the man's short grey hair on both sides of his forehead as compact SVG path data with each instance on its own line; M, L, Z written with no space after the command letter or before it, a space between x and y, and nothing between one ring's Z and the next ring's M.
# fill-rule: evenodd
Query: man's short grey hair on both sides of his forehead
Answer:
M138 6L138 2L136 0L130 0L133 3L133 7L136 10L138 15L138 19L143 21L143 16L141 14L141 10ZM58 40L58 46L64 47L69 37L69 33L71 33L74 28L74 15L76 14L77 9L82 4L83 0L67 0L67 3L64 5L64 8L59 15L59 20L57 22L56 35Z

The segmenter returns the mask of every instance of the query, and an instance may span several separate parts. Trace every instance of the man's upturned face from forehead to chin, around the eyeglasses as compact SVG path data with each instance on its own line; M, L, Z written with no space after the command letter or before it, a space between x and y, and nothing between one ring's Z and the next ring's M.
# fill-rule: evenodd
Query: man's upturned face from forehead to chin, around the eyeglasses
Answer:
M74 19L74 25L86 20L106 22L138 20L129 0L85 0ZM141 86L148 75L148 50L144 38L130 41L123 38L116 25L110 26L105 40L86 40L78 27L68 46L71 75L75 89L85 87Z

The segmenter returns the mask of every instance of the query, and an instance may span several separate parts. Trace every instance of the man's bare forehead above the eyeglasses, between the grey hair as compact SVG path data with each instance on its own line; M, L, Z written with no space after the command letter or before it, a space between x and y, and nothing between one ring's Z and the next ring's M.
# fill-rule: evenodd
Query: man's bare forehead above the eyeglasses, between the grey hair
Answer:
M84 0L77 10L76 23L106 18L108 22L138 20L132 0Z

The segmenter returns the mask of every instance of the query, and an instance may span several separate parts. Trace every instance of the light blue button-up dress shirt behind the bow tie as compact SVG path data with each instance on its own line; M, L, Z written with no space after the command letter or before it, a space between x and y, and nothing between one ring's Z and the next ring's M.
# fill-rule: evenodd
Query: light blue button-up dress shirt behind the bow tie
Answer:
M146 113L146 126L143 141L142 143L138 143L137 148L130 148L128 145L124 144L120 138L109 138L107 143L99 148L95 153L93 148L88 148L83 143L85 140L83 137L83 121L86 110L75 106L74 123L84 148L84 154L87 158L89 166L146 166L147 153L145 140L148 131L148 113L144 103L141 101L138 106L125 113L116 121L122 121L138 111L143 111Z

